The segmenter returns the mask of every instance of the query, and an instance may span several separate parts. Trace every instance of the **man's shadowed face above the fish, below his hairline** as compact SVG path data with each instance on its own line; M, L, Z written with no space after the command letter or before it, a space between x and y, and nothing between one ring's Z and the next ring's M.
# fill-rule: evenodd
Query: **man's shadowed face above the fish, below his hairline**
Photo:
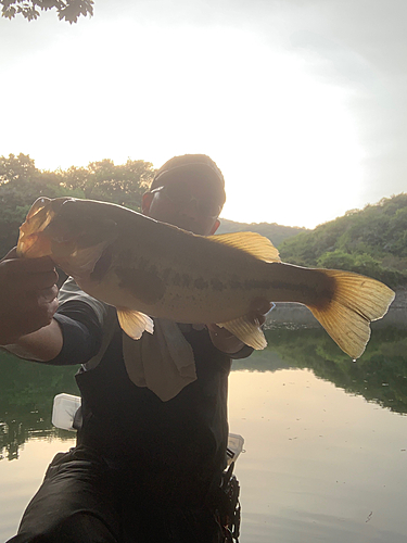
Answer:
M217 216L220 204L211 184L202 182L201 179L176 179L164 185L163 189L147 192L142 212L162 223L208 236L219 226Z

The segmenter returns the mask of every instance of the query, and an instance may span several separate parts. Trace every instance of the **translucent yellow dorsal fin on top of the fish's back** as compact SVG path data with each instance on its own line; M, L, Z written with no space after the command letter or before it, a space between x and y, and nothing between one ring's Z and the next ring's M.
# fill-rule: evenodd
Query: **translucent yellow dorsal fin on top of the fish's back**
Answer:
M278 250L268 238L256 232L231 232L208 236L212 241L245 251L265 262L281 262Z

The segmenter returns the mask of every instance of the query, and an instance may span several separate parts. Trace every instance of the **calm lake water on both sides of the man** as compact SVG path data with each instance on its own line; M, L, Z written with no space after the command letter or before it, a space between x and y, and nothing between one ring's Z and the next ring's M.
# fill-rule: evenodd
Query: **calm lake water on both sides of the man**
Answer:
M241 543L405 543L407 332L373 331L356 364L320 330L267 339L230 376ZM53 396L77 393L75 371L0 353L0 541L75 443L50 422Z

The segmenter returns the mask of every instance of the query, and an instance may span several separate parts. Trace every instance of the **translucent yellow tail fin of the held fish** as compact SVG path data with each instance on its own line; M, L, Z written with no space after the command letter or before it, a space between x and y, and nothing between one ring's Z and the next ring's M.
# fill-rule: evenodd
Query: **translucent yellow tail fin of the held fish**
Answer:
M323 305L308 308L342 351L359 358L370 338L370 323L387 313L395 293L363 275L335 269L319 272L333 278L333 295Z

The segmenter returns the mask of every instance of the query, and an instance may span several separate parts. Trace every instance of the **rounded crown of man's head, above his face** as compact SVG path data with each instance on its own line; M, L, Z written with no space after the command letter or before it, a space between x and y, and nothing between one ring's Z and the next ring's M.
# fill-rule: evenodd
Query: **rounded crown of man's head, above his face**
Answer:
M150 190L163 187L166 182L171 182L177 178L187 178L187 176L199 177L201 182L211 182L224 205L226 201L225 179L222 173L215 162L206 154L183 154L169 159L154 175Z

